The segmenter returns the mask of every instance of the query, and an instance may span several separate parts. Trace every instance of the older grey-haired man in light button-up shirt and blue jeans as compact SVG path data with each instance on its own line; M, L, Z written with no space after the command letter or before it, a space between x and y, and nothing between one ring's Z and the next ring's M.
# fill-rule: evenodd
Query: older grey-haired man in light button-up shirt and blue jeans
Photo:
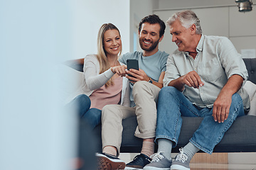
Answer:
M193 11L174 13L167 23L178 50L167 60L164 88L159 93L155 140L158 152L144 170L189 170L196 152L211 154L235 118L250 110L249 96L242 88L247 69L232 42L225 37L203 35ZM171 149L178 143L181 116L203 120L172 162Z

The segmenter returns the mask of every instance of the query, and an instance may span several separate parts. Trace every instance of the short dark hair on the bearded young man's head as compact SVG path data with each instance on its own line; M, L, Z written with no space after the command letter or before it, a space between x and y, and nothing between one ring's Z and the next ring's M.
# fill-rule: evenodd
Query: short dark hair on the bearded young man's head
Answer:
M162 35L164 35L164 30L166 28L165 23L164 23L164 21L161 21L159 16L156 16L156 14L149 15L149 16L142 18L142 21L140 21L140 23L139 23L139 32L142 29L142 23L150 23L150 24L159 23L159 25L160 25L159 36L161 37Z

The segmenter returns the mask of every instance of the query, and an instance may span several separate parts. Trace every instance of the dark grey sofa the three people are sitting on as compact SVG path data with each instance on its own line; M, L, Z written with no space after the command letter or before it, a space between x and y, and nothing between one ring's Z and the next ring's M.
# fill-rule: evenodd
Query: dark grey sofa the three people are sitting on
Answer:
M256 84L256 58L244 59L249 79ZM70 67L82 72L82 63L73 62ZM201 123L202 118L183 117L183 125L181 135L178 139L178 145L173 149L173 152L178 152L178 148L183 147L192 137ZM139 153L142 149L142 139L134 136L135 128L137 127L136 117L123 120L122 146L121 152ZM97 152L101 152L101 125L93 130ZM157 149L157 147L156 147ZM223 140L216 145L213 152L256 152L256 116L245 115L235 120L235 123L225 133Z

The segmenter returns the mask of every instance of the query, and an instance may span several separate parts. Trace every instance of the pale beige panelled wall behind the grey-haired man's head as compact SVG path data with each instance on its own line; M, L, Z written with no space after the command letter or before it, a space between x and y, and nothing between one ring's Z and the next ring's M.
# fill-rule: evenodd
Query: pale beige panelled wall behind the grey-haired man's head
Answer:
M195 5L199 5L196 4L196 2L198 1L195 0ZM171 1L169 4L171 4ZM164 5L168 6L166 1L164 1ZM159 6L164 5L159 4ZM181 3L178 6L182 5ZM192 9L197 14L198 18L200 18L203 34L228 37L233 42L233 45L235 45L238 52L242 53L241 50L256 50L256 10L253 10L255 7L256 5L253 5L252 11L247 13L239 12L237 6L220 6L220 3L216 6L209 5L208 7L201 6L196 8L186 6L184 8ZM184 8L159 8L155 9L154 13L159 15L164 21L167 21L173 13L181 11ZM171 42L169 26L167 26L164 40L160 43L159 49L171 54L176 48L176 44Z

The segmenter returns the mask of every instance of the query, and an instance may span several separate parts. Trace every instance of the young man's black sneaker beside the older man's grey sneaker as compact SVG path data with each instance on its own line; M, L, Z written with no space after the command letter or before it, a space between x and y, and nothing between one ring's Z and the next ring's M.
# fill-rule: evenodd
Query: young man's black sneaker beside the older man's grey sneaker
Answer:
M143 169L146 164L151 162L151 158L146 156L146 154L139 154L134 157L132 162L126 165L126 169Z

